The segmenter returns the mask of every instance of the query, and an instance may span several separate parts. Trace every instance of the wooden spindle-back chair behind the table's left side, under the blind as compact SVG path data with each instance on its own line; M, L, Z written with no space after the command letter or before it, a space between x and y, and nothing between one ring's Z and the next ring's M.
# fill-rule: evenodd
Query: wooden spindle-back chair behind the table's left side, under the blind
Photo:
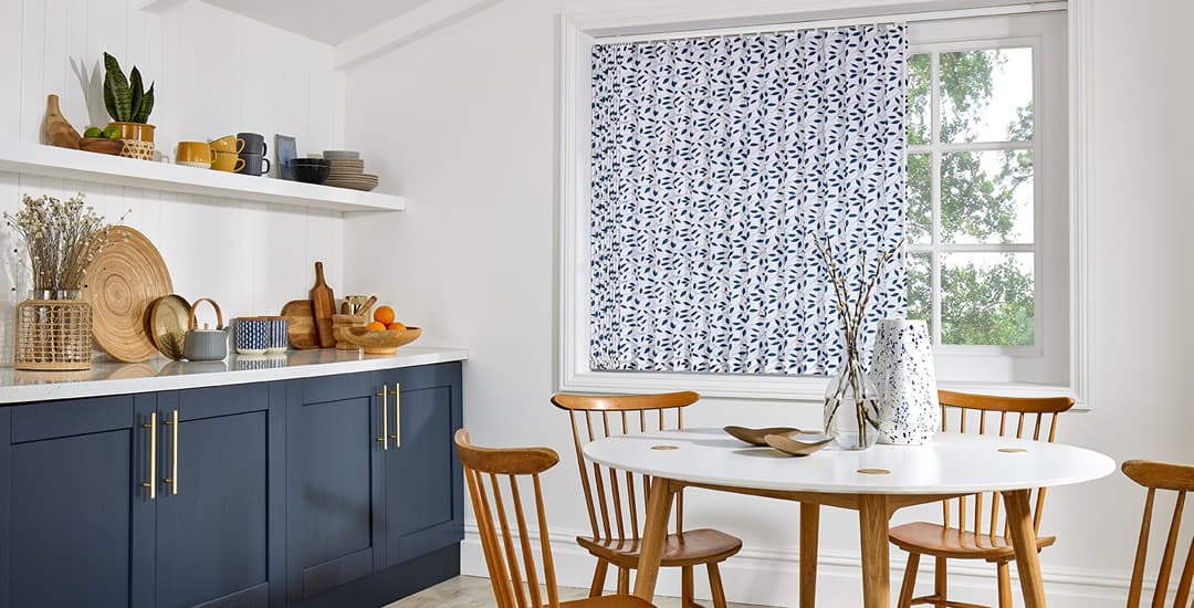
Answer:
M683 429L684 407L693 405L700 398L701 395L693 392L552 397L552 403L556 407L567 410L572 419L572 441L577 449L577 465L580 468L580 486L585 493L589 523L592 528L592 536L577 536L577 542L597 558L592 585L589 589L590 596L601 595L610 564L617 567L618 592L628 592L630 570L639 565L641 528L646 521L651 478L602 467L596 462L586 465L584 444L614 435ZM693 601L693 570L703 564L709 576L713 606L725 608L726 592L721 586L718 564L738 553L743 541L710 528L685 530L683 492L676 495L675 520L676 532L669 534L664 542L660 566L681 569L681 606L683 608L700 606Z

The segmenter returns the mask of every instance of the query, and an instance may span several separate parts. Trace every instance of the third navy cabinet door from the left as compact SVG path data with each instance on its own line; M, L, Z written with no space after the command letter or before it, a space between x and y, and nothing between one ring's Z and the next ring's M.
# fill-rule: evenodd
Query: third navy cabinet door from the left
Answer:
M287 382L287 597L374 571L382 444L374 374Z

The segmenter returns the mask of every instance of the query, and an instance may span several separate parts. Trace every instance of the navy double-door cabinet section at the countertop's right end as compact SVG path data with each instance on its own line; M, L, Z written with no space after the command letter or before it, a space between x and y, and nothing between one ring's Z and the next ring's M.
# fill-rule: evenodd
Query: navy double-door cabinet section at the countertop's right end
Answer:
M461 541L461 389L458 363L288 386L290 601Z

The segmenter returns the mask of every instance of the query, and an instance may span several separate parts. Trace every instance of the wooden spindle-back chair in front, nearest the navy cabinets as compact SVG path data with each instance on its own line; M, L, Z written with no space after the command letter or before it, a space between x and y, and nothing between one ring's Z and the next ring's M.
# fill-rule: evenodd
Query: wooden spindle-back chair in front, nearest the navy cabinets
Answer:
M653 604L630 595L560 602L555 584L555 565L552 561L552 545L547 534L547 516L543 512L543 492L538 481L540 473L560 461L555 450L481 448L469 442L467 429L461 429L456 431L456 452L464 466L464 479L468 481L468 493L473 500L473 515L480 530L481 548L485 552L485 564L490 570L490 583L493 585L498 608L653 608ZM519 491L518 478L528 475L535 493L534 508L538 524L538 549L543 560L542 583L547 589L546 603L540 590L538 569L535 565L530 530L527 528L527 516L523 514L523 495ZM510 528L511 521L517 527L513 534Z

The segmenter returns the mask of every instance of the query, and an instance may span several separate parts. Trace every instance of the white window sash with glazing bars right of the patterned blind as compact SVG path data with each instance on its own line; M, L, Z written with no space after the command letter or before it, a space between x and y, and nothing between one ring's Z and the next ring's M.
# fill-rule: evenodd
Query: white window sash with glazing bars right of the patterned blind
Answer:
M940 81L933 82L933 139L927 145L909 146L909 154L933 154L933 245L910 244L909 252L930 253L933 258L933 330L934 358L938 380L944 385L986 385L1002 389L1018 382L1028 392L1036 394L1040 388L1067 385L1071 374L1069 349L1071 328L1066 324L1075 301L1069 293L1066 258L1071 256L1066 241L1070 239L1070 221L1066 205L1058 204L1069 197L1066 179L1066 127L1065 79L1055 78L1066 69L1058 56L1057 38L1066 32L1057 31L1055 17L1022 14L1007 19L970 19L956 24L910 24L909 37L915 39L909 55L931 53L931 72L938 73L937 57L941 53L985 50L1001 48L1030 48L1033 53L1033 139L1024 146L1018 142L946 143L938 141ZM915 31L913 31L915 30ZM1027 32L1027 33L1026 33ZM1013 245L952 245L942 244L936 232L941 211L940 155L949 152L1032 149L1034 158L1033 179L1033 237L1030 244ZM941 254L949 252L1030 252L1034 268L1034 344L1032 346L949 345L941 344Z

